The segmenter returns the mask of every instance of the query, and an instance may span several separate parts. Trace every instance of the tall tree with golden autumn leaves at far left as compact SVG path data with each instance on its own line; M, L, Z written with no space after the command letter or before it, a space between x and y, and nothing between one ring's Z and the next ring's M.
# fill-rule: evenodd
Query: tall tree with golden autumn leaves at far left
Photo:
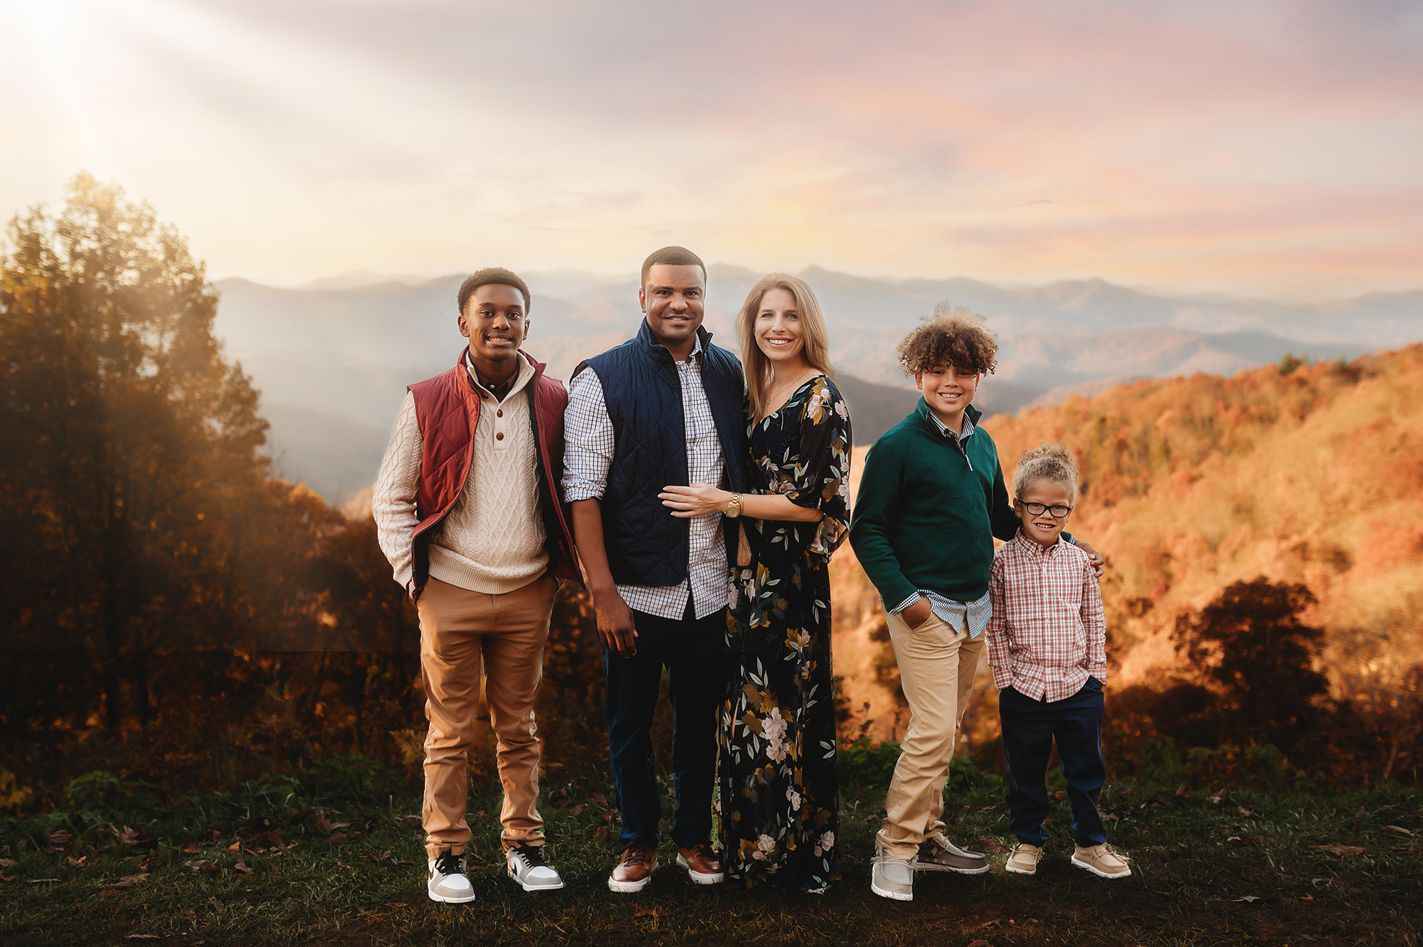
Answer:
M6 250L10 647L83 656L70 681L98 688L108 727L125 692L147 722L154 650L223 630L211 600L231 580L236 508L266 474L266 422L212 336L203 266L121 189L77 176L58 218L10 223Z

